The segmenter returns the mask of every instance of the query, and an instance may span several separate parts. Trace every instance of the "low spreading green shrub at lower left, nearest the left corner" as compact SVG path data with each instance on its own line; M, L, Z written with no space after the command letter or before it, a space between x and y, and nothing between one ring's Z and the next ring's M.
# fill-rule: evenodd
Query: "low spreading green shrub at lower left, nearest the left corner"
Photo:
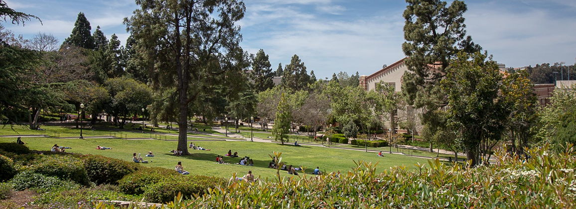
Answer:
M12 184L12 187L14 187L16 191L22 191L28 188L41 189L42 191L50 191L59 188L79 188L79 185L73 182L62 181L58 177L46 176L31 171L24 171L16 174L16 176L10 180L10 184Z

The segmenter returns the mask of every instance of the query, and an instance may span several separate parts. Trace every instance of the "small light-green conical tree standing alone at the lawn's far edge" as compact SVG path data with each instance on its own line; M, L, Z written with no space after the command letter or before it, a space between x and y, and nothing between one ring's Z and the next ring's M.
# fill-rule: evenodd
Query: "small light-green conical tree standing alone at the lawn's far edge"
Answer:
M288 141L288 133L290 132L290 105L286 101L286 96L282 93L280 97L280 102L278 102L278 107L276 107L276 120L274 120L274 126L272 127L272 135L274 135L274 140L280 140L282 145L284 141Z

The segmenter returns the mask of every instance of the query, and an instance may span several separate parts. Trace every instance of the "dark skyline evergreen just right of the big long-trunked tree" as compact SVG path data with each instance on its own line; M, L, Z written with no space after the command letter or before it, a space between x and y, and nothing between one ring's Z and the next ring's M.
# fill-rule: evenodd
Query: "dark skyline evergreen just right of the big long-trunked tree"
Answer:
M252 74L249 74L249 78L254 82L256 92L263 92L274 87L274 81L272 81L274 73L272 73L270 66L268 55L260 49L252 62Z

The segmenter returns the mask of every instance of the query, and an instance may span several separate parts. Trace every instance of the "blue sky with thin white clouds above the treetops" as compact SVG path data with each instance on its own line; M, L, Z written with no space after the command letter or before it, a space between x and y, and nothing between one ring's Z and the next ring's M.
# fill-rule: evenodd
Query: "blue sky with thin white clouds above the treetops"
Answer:
M52 33L63 41L84 12L93 31L100 25L109 38L122 44L128 33L124 17L137 8L133 0L6 0L20 12L40 17L25 26L2 24L29 38ZM576 1L497 0L465 1L468 35L494 60L507 67L565 61L576 58ZM297 54L317 78L346 71L369 75L404 57L406 2L401 0L247 0L242 28L242 47L255 54L260 48L270 55L272 69Z

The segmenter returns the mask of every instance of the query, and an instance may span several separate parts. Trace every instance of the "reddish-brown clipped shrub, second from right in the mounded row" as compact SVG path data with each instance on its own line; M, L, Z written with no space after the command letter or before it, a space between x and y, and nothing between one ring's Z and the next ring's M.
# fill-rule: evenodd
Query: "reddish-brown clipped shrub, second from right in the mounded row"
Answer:
M82 161L89 180L96 184L118 184L120 179L139 168L132 162L101 155L86 155Z

